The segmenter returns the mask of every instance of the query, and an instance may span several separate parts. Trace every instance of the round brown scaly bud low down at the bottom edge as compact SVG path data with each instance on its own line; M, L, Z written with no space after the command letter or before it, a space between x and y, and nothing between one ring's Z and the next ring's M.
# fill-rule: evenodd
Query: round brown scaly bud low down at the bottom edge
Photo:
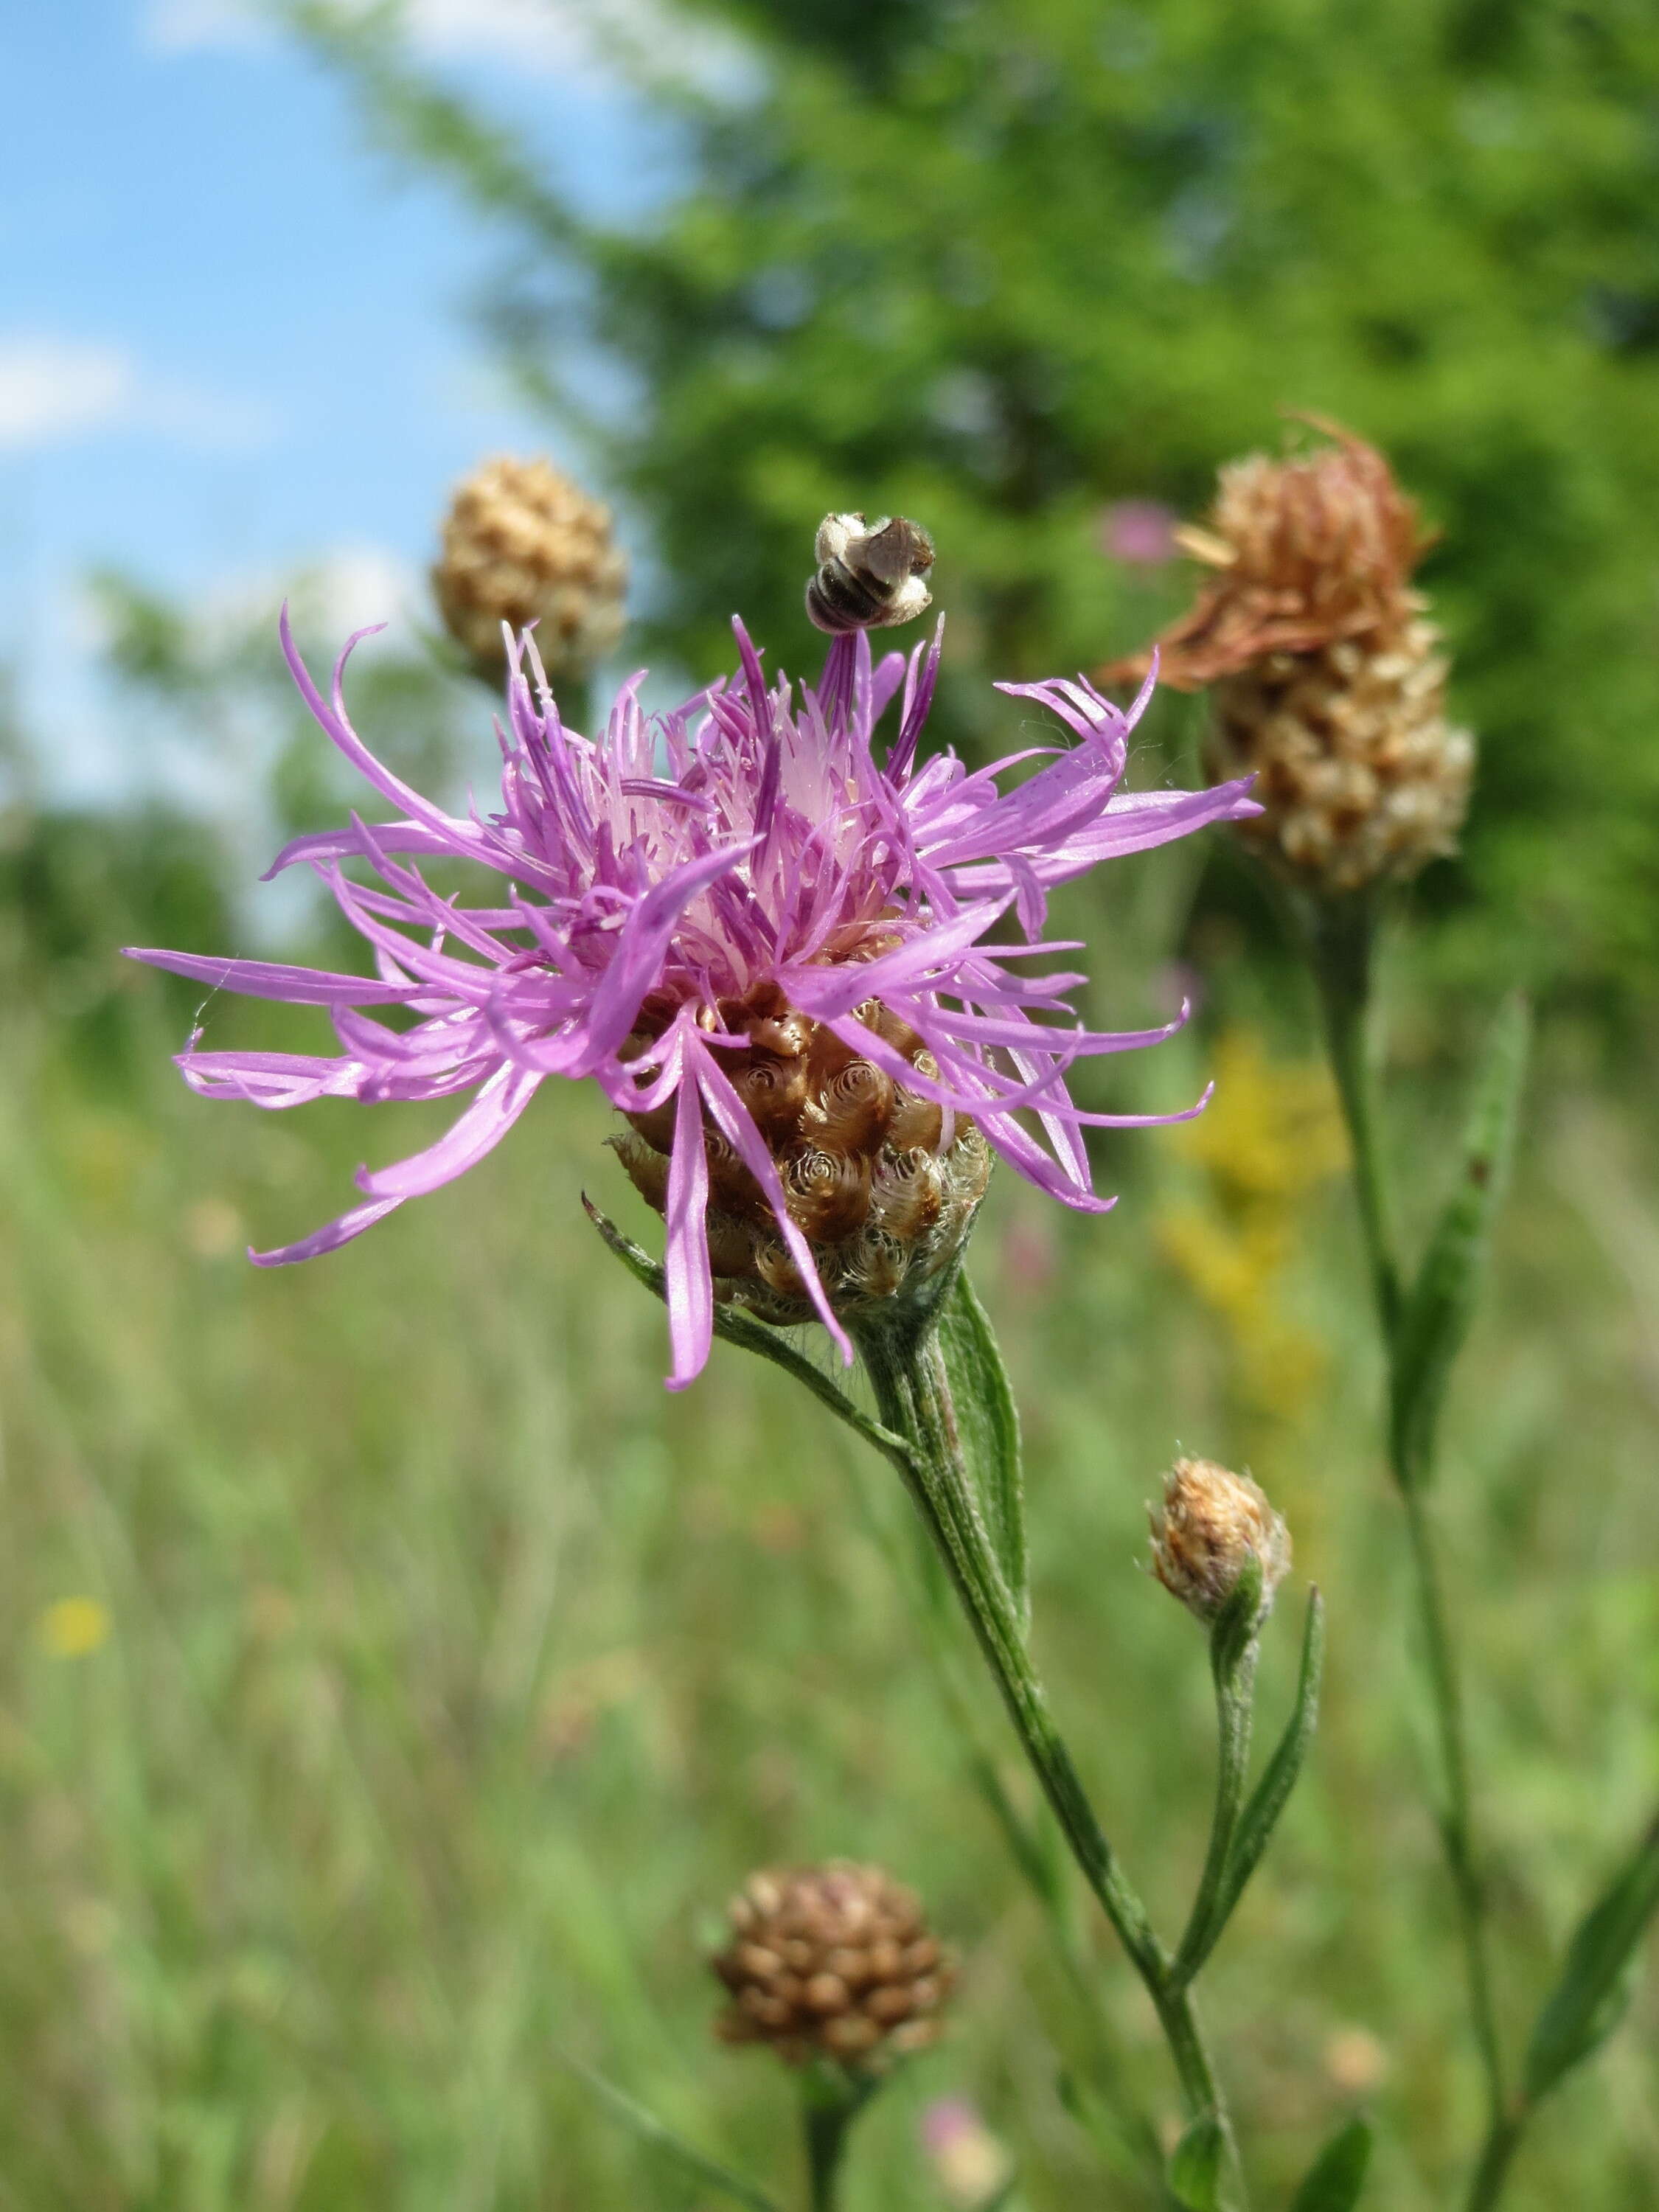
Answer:
M770 2044L790 2066L878 2073L940 2035L953 1966L914 1891L880 1867L830 1860L752 1874L710 1964L732 1995L717 2033Z

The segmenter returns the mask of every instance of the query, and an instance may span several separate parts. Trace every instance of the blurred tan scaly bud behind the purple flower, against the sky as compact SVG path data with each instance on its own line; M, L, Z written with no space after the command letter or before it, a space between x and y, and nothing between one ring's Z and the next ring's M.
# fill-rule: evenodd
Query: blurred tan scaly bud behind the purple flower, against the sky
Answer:
M622 635L628 560L611 509L546 460L487 460L462 478L431 586L480 677L507 675L502 624L535 624L549 675L584 677Z

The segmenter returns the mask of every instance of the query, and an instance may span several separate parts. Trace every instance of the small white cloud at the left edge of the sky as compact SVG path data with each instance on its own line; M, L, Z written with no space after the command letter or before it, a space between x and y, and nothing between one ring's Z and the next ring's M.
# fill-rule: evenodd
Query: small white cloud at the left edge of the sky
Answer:
M126 345L0 332L0 449L62 445L111 429L243 451L268 445L276 420L259 400L155 374Z

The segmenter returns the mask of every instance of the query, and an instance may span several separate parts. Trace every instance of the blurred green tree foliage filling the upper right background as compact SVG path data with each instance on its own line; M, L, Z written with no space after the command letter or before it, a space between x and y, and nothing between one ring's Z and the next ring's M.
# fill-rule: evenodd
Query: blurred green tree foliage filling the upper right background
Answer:
M1442 549L1425 582L1482 741L1442 958L1646 991L1659 951L1659 18L1641 0L668 0L748 40L730 97L675 31L617 66L686 184L626 232L425 80L400 9L283 13L376 128L518 223L495 330L531 389L597 330L584 429L699 672L741 608L807 659L830 507L916 513L982 677L1093 666L1181 580L1099 544L1106 502L1199 509L1217 462L1318 409L1385 445ZM597 18L611 22L611 18ZM1168 708L1164 710L1168 714ZM1230 894L1214 894L1221 902Z

